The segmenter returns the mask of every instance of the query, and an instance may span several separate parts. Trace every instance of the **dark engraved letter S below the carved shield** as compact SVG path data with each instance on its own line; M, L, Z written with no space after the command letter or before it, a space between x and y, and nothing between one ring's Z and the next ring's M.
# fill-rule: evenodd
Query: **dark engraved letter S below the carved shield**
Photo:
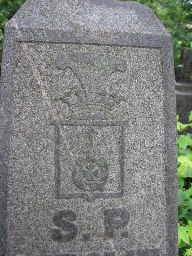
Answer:
M52 229L52 239L58 242L68 242L76 237L77 227L71 221L76 220L75 212L71 210L62 210L55 213L53 221L56 226L67 231L67 234L62 234L59 228Z

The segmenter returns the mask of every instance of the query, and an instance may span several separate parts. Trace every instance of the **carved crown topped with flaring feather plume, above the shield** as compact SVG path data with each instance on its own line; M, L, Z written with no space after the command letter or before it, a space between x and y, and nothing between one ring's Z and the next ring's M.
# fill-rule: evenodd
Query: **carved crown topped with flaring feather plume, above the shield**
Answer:
M123 100L117 93L101 90L104 81L112 72L123 72L127 68L123 59L95 52L68 53L58 57L57 66L60 69L70 68L82 86L82 89L75 91L76 100L70 100L72 92L66 92L58 97L68 103L72 112L71 118L107 119L112 107L119 100Z

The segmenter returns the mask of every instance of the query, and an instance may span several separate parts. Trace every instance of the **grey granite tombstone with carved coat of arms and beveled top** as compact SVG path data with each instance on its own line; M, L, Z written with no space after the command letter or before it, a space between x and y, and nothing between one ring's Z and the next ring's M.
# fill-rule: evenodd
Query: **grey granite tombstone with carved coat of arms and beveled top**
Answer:
M178 255L175 112L149 8L28 0L5 28L1 255Z

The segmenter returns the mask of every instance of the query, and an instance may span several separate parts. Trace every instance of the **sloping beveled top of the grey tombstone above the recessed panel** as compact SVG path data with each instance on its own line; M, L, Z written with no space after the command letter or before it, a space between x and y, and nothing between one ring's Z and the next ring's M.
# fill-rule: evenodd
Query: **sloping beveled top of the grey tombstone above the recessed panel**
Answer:
M19 39L35 41L140 44L146 35L155 44L170 36L150 8L132 1L28 0L8 26L22 29Z

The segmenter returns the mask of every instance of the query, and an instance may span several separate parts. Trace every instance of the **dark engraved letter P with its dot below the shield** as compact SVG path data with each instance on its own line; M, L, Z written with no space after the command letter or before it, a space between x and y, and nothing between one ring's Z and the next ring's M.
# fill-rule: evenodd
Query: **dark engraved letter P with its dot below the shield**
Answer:
M113 237L114 229L125 227L129 217L129 212L124 208L107 209L105 211L106 236Z

